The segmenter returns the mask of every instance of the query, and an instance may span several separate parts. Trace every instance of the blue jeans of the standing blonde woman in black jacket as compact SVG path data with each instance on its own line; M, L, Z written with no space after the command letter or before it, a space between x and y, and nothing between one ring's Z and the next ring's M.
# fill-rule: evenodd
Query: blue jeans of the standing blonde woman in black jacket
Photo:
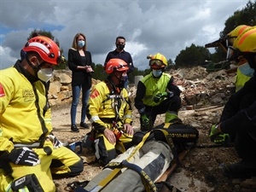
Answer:
M88 89L88 85L86 87L82 84L72 86L73 99L72 99L71 110L70 110L71 125L76 124L76 114L77 114L77 108L79 105L79 96L80 96L81 89L82 89L82 112L81 112L81 121L80 122L82 123L85 120L86 108L87 108L88 99L90 96L90 88Z

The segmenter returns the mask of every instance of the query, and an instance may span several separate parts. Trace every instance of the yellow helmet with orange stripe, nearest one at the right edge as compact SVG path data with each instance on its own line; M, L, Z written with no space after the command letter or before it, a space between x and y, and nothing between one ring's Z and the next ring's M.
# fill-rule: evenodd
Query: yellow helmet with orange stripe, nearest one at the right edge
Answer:
M233 47L241 52L256 53L256 26L242 32L234 41Z

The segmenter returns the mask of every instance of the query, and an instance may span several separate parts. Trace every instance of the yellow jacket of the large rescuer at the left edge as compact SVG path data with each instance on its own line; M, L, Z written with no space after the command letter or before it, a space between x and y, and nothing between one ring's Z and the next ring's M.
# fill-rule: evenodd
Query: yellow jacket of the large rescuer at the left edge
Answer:
M31 83L15 67L0 71L0 151L10 152L14 143L39 142L52 131L50 113L43 114L45 105L41 81Z

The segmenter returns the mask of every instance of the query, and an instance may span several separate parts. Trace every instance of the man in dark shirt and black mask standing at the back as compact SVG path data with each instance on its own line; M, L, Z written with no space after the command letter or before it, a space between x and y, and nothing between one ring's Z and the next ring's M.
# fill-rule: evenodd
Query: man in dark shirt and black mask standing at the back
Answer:
M113 51L110 51L106 57L105 63L104 63L104 68L106 67L106 64L108 63L108 61L110 59L113 58L118 58L121 59L123 61L125 61L129 67L129 70L127 72L127 75L129 73L131 73L134 70L134 66L133 66L133 61L131 58L131 54L127 51L125 51L125 38L122 36L119 36L115 39L115 45L116 45L116 49L114 49ZM125 89L128 86L128 76L125 79Z

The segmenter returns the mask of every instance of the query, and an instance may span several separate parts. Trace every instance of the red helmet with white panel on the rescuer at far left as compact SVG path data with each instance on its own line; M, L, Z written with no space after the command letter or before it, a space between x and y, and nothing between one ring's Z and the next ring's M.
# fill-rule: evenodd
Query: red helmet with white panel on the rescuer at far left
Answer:
M29 39L23 50L26 52L37 52L45 62L51 65L56 66L61 61L61 51L58 45L50 38L44 36Z

